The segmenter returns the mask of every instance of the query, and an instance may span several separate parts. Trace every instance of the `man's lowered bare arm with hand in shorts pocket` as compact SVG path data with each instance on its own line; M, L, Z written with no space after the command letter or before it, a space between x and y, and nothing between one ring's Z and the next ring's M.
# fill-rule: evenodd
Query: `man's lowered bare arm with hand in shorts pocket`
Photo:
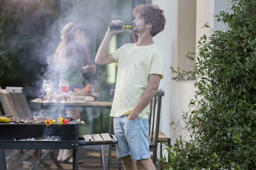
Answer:
M158 75L158 74L149 75L149 86L145 91L145 93L143 94L140 101L134 107L131 114L127 117L128 120L135 120L138 114L150 103L153 96L155 96L158 91L160 79L161 79L161 75Z

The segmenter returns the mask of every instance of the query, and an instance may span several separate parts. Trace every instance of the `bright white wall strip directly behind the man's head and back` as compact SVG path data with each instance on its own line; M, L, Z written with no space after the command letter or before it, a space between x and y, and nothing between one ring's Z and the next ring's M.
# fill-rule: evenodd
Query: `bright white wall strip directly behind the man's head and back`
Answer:
M164 91L162 98L162 112L160 130L168 136L171 136L171 110L172 110L172 66L173 59L177 55L177 6L178 0L153 0L152 4L158 5L164 10L166 24L164 31L153 38L154 43L164 54L164 75L160 81L159 89Z

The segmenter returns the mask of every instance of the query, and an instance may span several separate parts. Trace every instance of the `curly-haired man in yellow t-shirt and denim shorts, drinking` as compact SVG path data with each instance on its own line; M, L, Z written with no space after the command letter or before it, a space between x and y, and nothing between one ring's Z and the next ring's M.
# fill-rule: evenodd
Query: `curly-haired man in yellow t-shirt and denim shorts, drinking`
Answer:
M124 44L107 53L109 42L121 30L108 29L96 54L96 64L118 65L116 91L110 116L113 117L114 134L118 139L117 157L125 169L156 169L149 151L149 106L158 91L163 75L163 54L153 43L153 36L163 31L165 17L157 5L138 5L134 8L133 33L137 43ZM116 25L121 20L112 20Z

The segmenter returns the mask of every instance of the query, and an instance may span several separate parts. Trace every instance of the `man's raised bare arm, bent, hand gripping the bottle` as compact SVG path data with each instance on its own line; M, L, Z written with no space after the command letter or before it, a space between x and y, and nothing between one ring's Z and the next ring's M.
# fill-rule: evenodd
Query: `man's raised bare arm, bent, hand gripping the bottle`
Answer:
M120 20L113 20L112 23L115 23L115 24L119 24ZM116 60L114 59L113 55L110 53L110 54L107 54L108 52L108 46L109 46L109 43L110 43L110 40L111 38L113 37L114 34L117 34L117 33L121 33L123 32L124 29L122 30L115 30L115 31L110 31L110 29L108 29L103 41L101 42L100 46L99 46L99 49L97 51L97 54L96 54L96 57L95 57L95 63L96 64L99 64L99 65L104 65L104 64L109 64L109 63L114 63L116 62Z

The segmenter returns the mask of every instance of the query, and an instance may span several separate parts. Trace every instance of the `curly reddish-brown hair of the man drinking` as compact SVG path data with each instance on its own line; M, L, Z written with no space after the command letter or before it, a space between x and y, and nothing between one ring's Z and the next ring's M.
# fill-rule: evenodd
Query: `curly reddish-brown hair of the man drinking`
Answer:
M138 5L134 8L133 15L135 17L144 17L145 24L151 23L153 25L152 30L150 32L152 36L157 35L164 29L166 21L163 14L163 10L161 10L157 5Z

